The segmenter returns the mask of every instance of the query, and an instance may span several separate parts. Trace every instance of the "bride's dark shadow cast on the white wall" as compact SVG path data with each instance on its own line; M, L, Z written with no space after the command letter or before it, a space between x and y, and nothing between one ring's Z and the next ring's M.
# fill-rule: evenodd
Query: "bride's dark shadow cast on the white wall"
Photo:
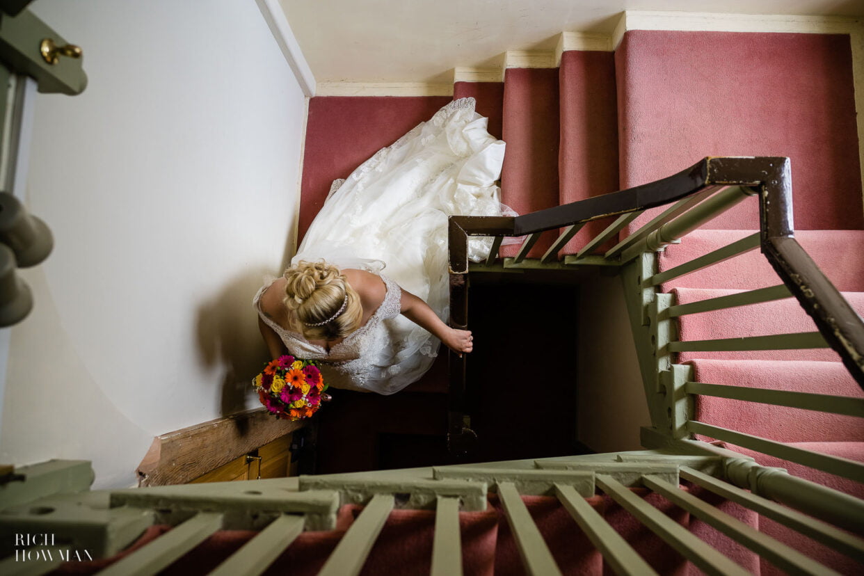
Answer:
M247 406L250 381L270 358L258 331L252 297L267 272L257 269L236 276L198 309L200 360L209 368L224 371L220 408L223 416L257 406L257 402Z

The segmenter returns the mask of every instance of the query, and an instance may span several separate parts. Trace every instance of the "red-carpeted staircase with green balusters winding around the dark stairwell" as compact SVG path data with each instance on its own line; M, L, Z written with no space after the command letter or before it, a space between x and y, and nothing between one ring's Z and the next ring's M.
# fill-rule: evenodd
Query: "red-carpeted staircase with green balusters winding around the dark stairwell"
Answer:
M118 552L143 528L115 531L103 547L114 557L56 573L142 563L165 574L861 572L864 216L852 85L840 35L636 31L615 53L564 50L560 67L456 82L454 98L477 98L507 142L502 201L526 218L451 218L453 324L473 318L469 278L617 276L632 325L621 341L632 339L639 361L632 395L651 418L646 450L54 496L149 526L133 548ZM301 233L330 180L444 102L314 98ZM358 157L340 159L343 149ZM720 154L759 157L679 172ZM495 244L469 266L472 233L524 243ZM402 400L380 402L414 406L409 434L447 432L469 450L471 358L441 358ZM576 386L596 391L601 377ZM445 406L449 421L435 421ZM131 510L142 517L123 516Z

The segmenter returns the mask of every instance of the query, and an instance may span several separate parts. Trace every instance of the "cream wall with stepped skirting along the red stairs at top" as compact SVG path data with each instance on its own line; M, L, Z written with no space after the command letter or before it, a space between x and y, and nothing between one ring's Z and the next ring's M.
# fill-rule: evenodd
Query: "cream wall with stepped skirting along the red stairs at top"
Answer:
M447 82L630 10L864 16L864 0L279 0L317 82Z

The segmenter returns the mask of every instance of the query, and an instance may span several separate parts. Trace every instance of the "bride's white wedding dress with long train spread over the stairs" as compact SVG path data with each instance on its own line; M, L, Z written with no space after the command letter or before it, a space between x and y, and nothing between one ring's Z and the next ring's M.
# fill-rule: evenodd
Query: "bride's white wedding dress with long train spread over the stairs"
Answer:
M321 361L334 388L393 394L429 370L439 340L399 314L401 290L448 320L448 216L513 214L500 204L505 143L486 131L473 98L444 106L346 180L336 180L291 264L323 258L340 269L378 274L384 302L329 353L302 335L264 321L298 358ZM472 238L469 257L485 258L492 238ZM382 270L384 270L382 272Z

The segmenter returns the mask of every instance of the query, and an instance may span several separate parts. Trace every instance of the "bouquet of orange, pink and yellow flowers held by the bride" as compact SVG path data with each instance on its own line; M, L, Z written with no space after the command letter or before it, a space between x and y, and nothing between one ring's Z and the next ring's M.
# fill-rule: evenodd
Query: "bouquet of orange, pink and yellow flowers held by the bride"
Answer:
M258 398L276 418L298 421L314 415L330 399L327 384L314 360L285 355L276 358L252 379Z

